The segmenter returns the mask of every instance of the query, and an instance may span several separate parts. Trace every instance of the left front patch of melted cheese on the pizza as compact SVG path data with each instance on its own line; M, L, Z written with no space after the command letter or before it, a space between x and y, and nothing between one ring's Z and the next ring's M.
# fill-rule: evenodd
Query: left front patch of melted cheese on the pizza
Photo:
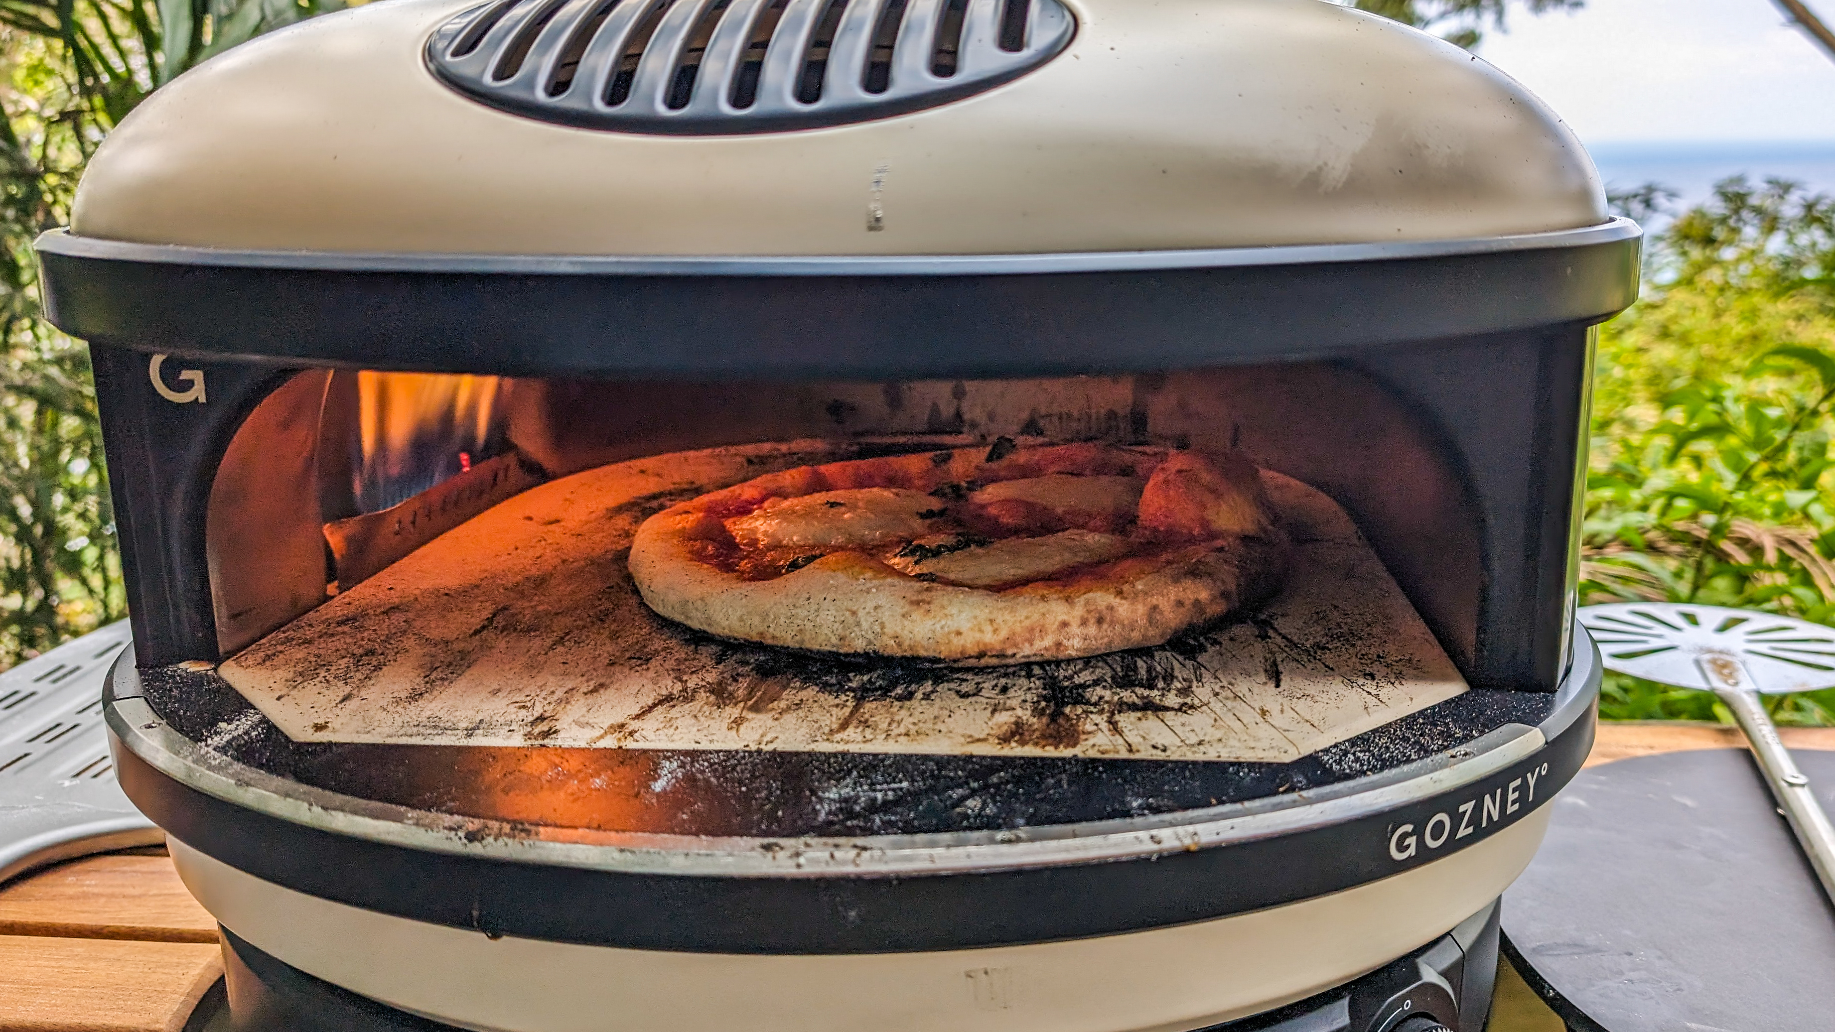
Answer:
M870 548L910 541L929 532L923 513L941 515L941 502L901 488L855 488L818 491L796 499L771 499L756 511L727 521L727 533L752 550Z

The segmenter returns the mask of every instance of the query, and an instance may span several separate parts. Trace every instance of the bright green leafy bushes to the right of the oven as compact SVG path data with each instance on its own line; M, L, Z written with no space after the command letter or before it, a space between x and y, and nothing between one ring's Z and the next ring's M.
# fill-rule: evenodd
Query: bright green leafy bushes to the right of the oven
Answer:
M1780 180L1727 180L1652 242L1646 297L1600 334L1584 601L1835 623L1831 266L1835 200ZM1835 691L1773 702L1784 722L1835 724ZM1718 704L1613 675L1602 711Z

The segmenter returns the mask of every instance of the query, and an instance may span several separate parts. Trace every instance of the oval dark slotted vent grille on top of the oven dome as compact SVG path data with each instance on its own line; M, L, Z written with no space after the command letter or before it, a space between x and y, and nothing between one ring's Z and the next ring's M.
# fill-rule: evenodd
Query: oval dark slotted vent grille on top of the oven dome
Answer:
M1075 29L1061 0L495 0L440 26L428 66L525 117L714 136L943 104Z

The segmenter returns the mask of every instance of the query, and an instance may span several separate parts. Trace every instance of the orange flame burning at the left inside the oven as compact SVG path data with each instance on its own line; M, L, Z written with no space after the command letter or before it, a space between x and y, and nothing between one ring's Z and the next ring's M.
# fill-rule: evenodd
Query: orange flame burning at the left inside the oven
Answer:
M406 502L508 449L505 378L365 370L354 379L350 491L360 511Z

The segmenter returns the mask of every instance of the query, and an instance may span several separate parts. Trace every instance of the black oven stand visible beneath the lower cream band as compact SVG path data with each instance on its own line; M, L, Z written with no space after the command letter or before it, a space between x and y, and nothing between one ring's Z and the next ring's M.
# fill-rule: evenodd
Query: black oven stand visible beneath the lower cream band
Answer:
M1459 928L1360 979L1217 1032L1384 1032L1409 1014L1429 1014L1455 1032L1481 1032L1497 973L1499 902ZM257 950L229 929L224 977L233 1032L442 1032L455 1030L316 979ZM1448 992L1450 990L1450 992ZM1411 1006L1404 1006L1411 1005ZM1206 1030L1209 1032L1209 1030Z

